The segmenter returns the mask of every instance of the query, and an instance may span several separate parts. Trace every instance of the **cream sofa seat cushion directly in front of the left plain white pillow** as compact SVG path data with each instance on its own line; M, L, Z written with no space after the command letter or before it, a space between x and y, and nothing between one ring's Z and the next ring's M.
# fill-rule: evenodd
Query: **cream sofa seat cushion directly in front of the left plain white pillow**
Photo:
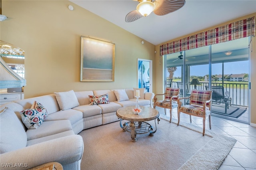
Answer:
M71 125L83 119L83 113L74 109L58 111L48 115L44 121L69 120Z

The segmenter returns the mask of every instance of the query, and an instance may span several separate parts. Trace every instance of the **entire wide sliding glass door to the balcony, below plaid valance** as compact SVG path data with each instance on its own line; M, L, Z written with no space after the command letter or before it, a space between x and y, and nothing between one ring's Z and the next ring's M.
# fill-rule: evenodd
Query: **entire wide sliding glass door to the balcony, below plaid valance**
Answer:
M212 115L248 123L248 42L242 38L165 55L166 87L179 87L180 96L211 89Z

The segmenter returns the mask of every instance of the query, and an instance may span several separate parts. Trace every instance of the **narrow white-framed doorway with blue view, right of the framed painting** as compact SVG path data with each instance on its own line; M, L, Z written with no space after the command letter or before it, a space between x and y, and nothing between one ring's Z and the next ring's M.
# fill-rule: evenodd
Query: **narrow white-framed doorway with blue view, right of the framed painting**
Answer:
M138 59L138 88L152 92L152 60Z

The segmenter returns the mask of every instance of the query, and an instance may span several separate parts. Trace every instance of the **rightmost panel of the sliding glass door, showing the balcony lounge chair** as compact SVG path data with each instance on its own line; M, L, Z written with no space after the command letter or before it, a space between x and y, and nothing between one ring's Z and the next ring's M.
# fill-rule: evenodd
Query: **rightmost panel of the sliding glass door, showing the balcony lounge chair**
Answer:
M212 45L212 87L215 88L212 88L215 97L212 114L246 123L249 122L248 42L249 38L241 38Z

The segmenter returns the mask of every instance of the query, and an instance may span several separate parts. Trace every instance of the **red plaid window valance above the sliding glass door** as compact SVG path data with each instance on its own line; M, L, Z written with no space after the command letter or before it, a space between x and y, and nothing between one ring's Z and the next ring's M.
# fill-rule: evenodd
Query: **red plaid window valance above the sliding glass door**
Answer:
M160 55L255 36L255 17L221 26L194 36L160 45Z

